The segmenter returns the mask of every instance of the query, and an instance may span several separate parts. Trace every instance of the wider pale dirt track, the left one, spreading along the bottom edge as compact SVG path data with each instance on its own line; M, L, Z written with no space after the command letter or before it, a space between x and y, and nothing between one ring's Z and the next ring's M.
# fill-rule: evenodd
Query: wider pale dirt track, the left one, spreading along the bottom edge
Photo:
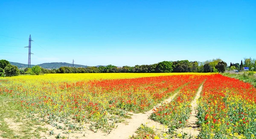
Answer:
M172 99L175 98L175 96L178 93L173 94L168 99L165 99L163 102L171 102ZM158 103L154 108L159 107L162 105L162 103ZM154 109L153 108L153 109ZM138 127L140 127L141 124L146 124L149 126L157 127L157 129L160 129L162 125L158 122L154 122L151 119L148 119L148 117L153 113L153 109L150 111L147 111L145 113L132 113L131 119L127 119L126 123L117 123L117 128L113 129L111 133L102 133L100 130L97 133L94 133L91 130L85 129L84 131L75 131L69 134L66 134L64 130L57 129L56 127L52 127L52 125L38 125L38 126L32 126L31 132L33 132L36 128L46 128L54 131L54 135L49 134L49 130L46 132L39 132L42 139L56 139L56 136L60 134L61 136L66 136L68 139L128 139L129 136L136 134L135 131ZM7 123L9 123L9 128L14 130L15 132L18 132L21 130L21 123L14 123L13 121L10 121L12 119L5 119ZM23 122L21 120L21 122ZM59 125L60 123L58 123ZM87 125L85 125L87 127Z

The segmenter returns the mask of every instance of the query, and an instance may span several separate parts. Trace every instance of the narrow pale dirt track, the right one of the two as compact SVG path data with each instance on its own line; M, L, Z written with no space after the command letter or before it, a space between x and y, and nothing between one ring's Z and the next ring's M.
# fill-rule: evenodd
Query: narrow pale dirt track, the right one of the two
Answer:
M192 112L191 115L189 116L189 119L186 123L186 128L179 128L177 129L177 133L187 133L188 135L191 135L193 138L196 138L196 136L199 135L199 126L196 125L196 122L198 121L198 118L196 117L196 113L197 113L197 103L196 101L199 99L201 91L202 91L203 85L200 86L200 88L198 89L198 92L195 96L195 99L191 102L191 106L192 106Z

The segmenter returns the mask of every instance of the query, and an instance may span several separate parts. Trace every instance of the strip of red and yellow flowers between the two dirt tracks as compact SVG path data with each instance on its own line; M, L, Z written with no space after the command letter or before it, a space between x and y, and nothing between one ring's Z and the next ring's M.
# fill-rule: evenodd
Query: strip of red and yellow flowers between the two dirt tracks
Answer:
M206 76L192 77L189 83L180 89L180 93L170 103L164 103L154 109L151 119L168 125L172 130L184 127L191 112L190 103L195 97L199 86L205 81Z

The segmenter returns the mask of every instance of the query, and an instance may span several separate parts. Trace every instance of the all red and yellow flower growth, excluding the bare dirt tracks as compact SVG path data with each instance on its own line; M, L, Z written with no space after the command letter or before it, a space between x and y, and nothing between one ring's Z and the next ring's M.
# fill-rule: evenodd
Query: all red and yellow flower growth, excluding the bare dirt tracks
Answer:
M55 127L61 123L63 130L88 128L110 133L134 113L153 110L148 118L166 125L169 132L140 133L134 138L154 139L168 138L186 126L191 102L201 85L198 138L255 139L256 88L220 74L18 76L0 78L0 96L12 99L23 111L37 114L41 122ZM171 102L164 102L176 93ZM162 105L154 107L158 103Z

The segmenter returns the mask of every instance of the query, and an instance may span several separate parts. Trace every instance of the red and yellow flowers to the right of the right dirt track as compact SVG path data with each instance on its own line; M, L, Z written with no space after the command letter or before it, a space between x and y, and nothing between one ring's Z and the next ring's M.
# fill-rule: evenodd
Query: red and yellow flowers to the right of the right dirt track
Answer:
M214 75L204 82L198 106L201 138L255 139L256 88L238 79Z

